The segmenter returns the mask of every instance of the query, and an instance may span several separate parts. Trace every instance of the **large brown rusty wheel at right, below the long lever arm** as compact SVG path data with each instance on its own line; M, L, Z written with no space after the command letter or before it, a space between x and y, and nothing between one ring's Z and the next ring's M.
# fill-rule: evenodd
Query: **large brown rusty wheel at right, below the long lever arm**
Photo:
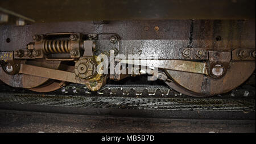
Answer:
M229 66L230 68L227 70L225 77L220 79L212 79L204 75L182 73L180 71L167 70L167 72L176 83L186 90L195 92L198 96L210 96L228 92L239 86L255 70L255 62L230 62ZM183 91L180 92L183 93Z

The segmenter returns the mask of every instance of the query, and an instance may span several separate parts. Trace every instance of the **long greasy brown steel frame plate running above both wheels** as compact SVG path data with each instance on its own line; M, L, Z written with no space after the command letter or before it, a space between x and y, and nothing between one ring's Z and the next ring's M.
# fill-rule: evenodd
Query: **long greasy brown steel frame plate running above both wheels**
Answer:
M154 27L159 30L155 31ZM131 20L93 22L36 23L24 27L1 25L1 50L25 48L35 33L81 32L117 33L121 54L145 54L159 59L177 59L179 49L230 50L255 49L255 20ZM221 39L216 37L220 36ZM6 42L9 38L10 43ZM103 47L103 46L102 46ZM126 55L127 56L127 55Z

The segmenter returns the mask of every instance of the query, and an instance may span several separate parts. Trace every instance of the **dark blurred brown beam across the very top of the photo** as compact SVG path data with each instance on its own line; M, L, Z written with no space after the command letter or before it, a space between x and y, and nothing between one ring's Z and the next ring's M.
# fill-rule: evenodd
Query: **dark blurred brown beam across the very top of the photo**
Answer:
M1 1L1 7L36 22L133 19L249 19L255 18L253 0L191 1ZM28 7L24 11L24 7Z

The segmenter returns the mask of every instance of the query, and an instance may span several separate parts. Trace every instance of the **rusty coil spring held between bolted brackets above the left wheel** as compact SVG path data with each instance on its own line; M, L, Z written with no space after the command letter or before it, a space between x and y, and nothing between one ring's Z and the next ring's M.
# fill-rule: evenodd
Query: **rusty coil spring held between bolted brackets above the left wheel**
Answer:
M69 40L44 40L43 52L48 53L69 53Z

